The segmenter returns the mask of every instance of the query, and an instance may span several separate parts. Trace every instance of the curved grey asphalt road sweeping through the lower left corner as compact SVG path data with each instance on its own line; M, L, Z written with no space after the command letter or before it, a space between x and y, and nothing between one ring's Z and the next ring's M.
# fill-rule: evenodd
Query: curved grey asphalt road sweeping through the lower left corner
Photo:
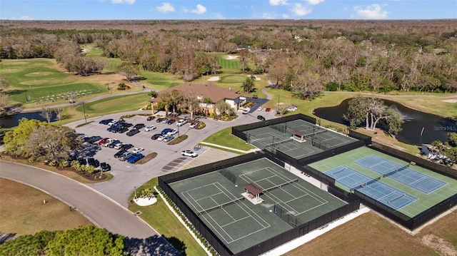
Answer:
M1 178L42 190L69 205L69 210L78 210L94 225L124 235L132 255L179 255L141 218L84 184L29 165L0 161L0 167Z

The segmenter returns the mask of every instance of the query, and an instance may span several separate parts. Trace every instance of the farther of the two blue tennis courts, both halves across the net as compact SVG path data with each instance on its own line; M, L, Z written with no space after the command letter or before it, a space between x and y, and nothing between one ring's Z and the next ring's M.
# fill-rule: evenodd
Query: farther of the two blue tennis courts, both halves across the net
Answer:
M384 177L396 180L399 183L403 183L404 185L425 194L432 193L438 188L448 184L442 180L437 180L436 178L412 170L411 168L408 168L409 165L402 166L398 163L393 163L390 160L380 158L377 155L369 155L366 158L361 158L353 163L373 170Z

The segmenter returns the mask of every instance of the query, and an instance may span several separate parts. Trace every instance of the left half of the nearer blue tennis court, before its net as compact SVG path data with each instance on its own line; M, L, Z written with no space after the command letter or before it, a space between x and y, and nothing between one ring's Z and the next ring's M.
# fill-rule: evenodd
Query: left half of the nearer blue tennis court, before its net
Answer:
M337 183L340 183L349 190L373 180L373 177L360 173L346 165L328 170L325 174L334 178Z

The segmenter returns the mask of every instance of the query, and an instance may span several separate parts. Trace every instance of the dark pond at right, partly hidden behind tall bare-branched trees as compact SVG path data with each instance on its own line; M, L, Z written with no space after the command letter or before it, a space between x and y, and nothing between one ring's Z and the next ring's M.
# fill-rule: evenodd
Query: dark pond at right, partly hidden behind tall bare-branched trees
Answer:
M314 114L318 118L348 125L348 122L343 120L343 114L347 112L348 101L350 100L351 98L348 98L338 106L316 108ZM398 141L411 145L421 145L422 143L431 143L433 140L446 141L447 133L457 132L456 123L449 119L416 111L394 101L383 100L383 102L386 106L392 106L403 118L403 130L396 135Z

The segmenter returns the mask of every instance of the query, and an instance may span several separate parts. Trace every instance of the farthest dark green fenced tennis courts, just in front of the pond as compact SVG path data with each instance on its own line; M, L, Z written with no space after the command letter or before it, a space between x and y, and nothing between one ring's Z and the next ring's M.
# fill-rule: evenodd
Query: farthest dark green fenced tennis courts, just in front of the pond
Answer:
M244 133L246 133L247 142L257 148L272 152L281 150L296 159L356 141L301 119L246 130Z

